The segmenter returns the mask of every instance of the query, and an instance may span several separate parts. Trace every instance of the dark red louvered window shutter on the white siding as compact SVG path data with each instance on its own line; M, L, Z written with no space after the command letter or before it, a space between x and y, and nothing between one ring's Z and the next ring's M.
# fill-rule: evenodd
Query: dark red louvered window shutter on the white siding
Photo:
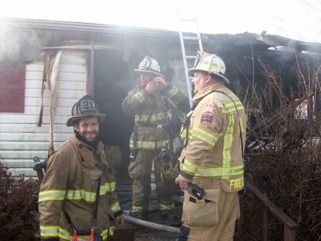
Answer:
M0 63L0 112L25 111L26 64Z

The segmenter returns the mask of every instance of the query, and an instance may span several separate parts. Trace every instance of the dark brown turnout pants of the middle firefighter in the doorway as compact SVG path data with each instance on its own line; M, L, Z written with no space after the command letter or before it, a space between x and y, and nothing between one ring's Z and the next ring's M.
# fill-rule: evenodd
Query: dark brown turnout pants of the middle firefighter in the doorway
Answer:
M129 164L128 173L133 179L132 213L148 212L150 196L151 168L154 162L154 174L158 208L163 214L174 211L173 188L174 180L161 179L161 166L158 161L159 150L137 150L136 159Z

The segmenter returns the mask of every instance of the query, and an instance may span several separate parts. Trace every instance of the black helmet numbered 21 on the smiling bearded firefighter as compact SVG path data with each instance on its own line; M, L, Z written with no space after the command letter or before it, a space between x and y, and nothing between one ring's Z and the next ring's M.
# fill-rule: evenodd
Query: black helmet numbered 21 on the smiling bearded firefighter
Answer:
M89 95L85 95L74 104L71 115L72 117L67 121L67 127L74 126L82 118L97 117L100 122L103 122L106 117L106 114L100 112L96 101Z

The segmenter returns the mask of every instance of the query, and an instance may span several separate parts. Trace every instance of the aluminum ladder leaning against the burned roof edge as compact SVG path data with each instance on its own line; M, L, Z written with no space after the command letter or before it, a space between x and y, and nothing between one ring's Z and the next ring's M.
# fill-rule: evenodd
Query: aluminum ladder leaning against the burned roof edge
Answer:
M190 101L190 108L192 109L193 106L195 105L195 101L193 101L193 97L192 97L192 79L194 78L193 76L190 76L189 72L188 72L188 63L189 66L194 65L195 59L197 58L197 56L192 56L192 55L186 55L186 51L185 51L185 45L195 45L195 42L197 41L199 44L199 49L203 51L203 46L202 46L202 40L201 40L201 35L200 35L200 30L199 30L199 26L197 23L197 17L196 17L196 12L194 12L194 18L190 19L190 18L182 18L180 15L180 11L177 9L177 16L178 16L178 20L179 20L179 27L180 27L180 40L181 40L181 47L182 47L182 55L183 55L183 62L184 62L184 68L185 68L185 77L186 77L186 83L187 83L187 90L188 90L188 97L189 97L189 101ZM191 32L189 31L189 35L187 35L188 32L183 32L182 31L182 27L184 27L184 24L191 24L190 26L193 26L193 28L196 29L196 36L195 36L195 32L193 32L193 34L191 34ZM195 51L196 53L196 51Z

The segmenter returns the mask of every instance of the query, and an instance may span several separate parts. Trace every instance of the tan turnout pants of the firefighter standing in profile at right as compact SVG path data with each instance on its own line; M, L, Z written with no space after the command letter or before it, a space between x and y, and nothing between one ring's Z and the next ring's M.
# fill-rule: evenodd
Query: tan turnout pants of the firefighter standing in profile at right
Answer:
M194 179L193 183L199 186L202 183L212 191L213 201L194 202L193 197L184 192L183 225L178 240L233 241L235 221L240 217L238 192L225 192L219 179Z

